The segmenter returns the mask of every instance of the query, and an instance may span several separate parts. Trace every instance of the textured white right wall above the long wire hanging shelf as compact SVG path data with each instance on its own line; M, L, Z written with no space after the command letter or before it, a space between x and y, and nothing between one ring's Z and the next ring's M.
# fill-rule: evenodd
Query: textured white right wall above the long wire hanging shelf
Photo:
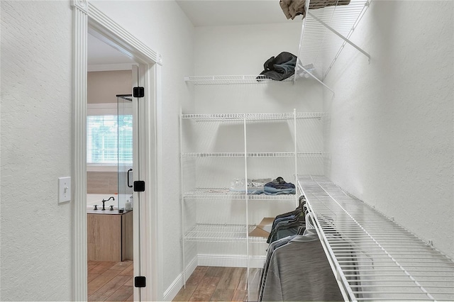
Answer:
M454 257L453 1L373 1L326 83L327 176Z

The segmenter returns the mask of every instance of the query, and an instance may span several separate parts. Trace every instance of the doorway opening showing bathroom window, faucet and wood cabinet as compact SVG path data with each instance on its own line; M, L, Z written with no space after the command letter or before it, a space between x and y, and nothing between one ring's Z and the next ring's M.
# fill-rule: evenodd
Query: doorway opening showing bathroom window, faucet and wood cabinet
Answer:
M87 54L87 301L131 301L136 63L91 34Z

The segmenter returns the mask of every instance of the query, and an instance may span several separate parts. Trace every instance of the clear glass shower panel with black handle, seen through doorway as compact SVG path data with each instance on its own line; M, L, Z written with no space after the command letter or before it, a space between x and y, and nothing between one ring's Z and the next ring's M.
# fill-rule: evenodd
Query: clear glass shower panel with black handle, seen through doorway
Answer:
M118 209L133 195L133 102L131 94L117 95Z

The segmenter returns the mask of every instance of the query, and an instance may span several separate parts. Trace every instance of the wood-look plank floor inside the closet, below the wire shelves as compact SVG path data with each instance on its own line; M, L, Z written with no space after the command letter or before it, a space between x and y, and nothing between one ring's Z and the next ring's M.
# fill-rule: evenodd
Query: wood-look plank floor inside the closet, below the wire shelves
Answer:
M258 279L260 270L251 275ZM244 267L196 267L173 301L257 301L248 299L246 278Z

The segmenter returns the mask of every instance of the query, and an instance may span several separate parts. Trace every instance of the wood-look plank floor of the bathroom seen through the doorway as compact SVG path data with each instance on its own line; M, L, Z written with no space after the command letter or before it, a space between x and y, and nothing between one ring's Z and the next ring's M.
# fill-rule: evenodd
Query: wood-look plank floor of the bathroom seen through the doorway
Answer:
M88 262L88 301L133 301L133 262Z

